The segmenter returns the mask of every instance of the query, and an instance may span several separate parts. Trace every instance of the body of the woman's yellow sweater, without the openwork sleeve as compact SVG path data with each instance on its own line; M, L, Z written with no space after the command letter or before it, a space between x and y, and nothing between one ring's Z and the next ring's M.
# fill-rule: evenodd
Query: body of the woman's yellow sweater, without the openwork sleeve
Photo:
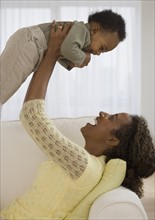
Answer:
M63 219L99 182L104 167L102 160L90 159L87 169L77 180L72 180L56 163L45 161L31 189L3 210L1 217L12 220Z

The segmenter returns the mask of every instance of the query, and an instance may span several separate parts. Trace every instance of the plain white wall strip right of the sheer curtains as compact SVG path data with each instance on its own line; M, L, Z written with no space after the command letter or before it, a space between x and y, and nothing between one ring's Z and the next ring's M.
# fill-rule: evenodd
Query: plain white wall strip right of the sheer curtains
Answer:
M147 118L151 132L155 137L154 4L154 0L142 1L141 114Z

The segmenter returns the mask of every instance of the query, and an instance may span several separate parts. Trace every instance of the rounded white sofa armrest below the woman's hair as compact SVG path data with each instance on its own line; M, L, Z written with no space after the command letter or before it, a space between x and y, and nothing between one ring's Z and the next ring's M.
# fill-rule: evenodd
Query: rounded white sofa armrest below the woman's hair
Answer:
M138 196L124 187L106 192L93 203L89 220L147 220L144 207Z

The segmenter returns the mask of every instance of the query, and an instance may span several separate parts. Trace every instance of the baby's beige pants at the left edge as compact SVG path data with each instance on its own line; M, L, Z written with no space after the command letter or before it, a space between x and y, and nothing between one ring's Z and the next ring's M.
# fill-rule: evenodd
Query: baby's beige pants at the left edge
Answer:
M41 59L35 39L31 28L23 28L8 40L0 60L2 104L18 90Z

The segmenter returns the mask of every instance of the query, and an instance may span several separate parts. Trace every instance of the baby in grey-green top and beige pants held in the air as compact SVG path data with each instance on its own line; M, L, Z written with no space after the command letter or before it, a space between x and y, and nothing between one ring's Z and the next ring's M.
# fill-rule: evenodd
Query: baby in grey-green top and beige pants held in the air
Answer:
M57 22L63 28L65 22ZM35 72L47 49L51 23L19 29L8 40L1 55L1 100L4 104ZM90 55L113 50L126 37L124 19L111 10L95 12L88 23L74 21L61 45L58 62L67 70L82 68Z

